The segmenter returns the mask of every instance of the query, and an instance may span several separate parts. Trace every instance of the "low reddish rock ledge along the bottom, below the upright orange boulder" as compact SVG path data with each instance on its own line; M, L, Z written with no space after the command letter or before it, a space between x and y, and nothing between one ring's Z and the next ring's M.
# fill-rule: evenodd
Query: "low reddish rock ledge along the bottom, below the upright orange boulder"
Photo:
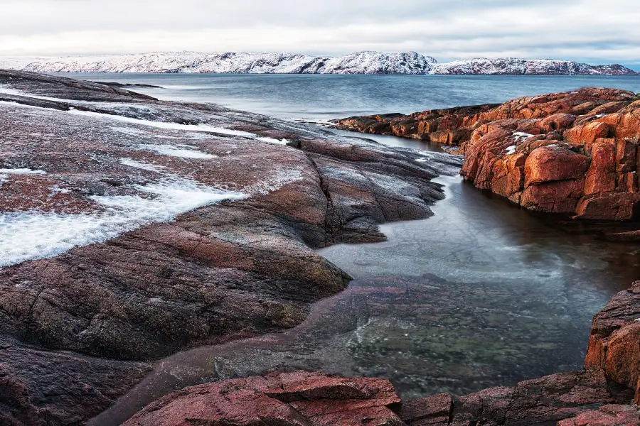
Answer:
M611 403L599 370L564 373L490 388L400 401L388 381L322 373L271 373L185 388L151 403L124 426L262 425L638 425L639 411ZM567 419L567 420L565 420ZM608 422L604 422L607 420Z

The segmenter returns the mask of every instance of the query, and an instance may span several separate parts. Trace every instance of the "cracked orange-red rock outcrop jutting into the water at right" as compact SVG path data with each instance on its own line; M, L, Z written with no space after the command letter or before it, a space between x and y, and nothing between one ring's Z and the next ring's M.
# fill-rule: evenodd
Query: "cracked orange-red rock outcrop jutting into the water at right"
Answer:
M640 100L633 92L580 89L337 124L459 146L465 180L527 209L624 221L640 202Z

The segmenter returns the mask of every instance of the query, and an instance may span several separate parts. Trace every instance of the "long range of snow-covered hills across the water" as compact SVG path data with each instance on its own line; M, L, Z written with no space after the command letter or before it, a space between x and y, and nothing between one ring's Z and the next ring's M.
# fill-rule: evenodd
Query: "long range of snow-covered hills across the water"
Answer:
M242 74L637 75L622 65L566 60L473 59L438 63L420 53L358 52L337 58L285 53L146 53L101 57L0 58L33 72L213 72Z

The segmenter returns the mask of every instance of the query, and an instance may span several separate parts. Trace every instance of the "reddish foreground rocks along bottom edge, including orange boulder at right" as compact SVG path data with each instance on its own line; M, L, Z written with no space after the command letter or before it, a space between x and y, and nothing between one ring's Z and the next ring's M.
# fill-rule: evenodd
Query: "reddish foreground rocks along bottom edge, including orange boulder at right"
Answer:
M124 425L637 426L639 316L636 282L595 315L585 370L513 387L403 401L391 383L379 378L271 373L185 388L151 403Z

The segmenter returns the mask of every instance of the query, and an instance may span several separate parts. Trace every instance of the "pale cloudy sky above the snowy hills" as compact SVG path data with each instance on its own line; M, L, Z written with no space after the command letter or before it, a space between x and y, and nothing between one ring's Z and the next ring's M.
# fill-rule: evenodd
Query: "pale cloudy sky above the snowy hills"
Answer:
M640 70L638 0L0 0L0 11L4 57L377 50Z

